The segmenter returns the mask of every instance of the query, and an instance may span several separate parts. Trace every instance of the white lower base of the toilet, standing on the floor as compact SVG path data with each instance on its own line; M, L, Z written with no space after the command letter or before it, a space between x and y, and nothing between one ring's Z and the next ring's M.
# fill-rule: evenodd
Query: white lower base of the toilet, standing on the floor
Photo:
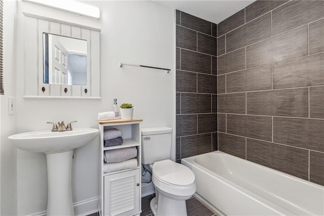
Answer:
M150 201L150 208L154 216L187 216L186 200L174 200L159 195L158 201L156 197Z

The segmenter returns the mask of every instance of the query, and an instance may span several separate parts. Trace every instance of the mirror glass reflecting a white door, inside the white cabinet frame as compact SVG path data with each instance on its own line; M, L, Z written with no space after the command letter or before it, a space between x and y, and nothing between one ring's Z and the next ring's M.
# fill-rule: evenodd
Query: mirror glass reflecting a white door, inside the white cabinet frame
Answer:
M44 83L87 85L87 41L43 33Z

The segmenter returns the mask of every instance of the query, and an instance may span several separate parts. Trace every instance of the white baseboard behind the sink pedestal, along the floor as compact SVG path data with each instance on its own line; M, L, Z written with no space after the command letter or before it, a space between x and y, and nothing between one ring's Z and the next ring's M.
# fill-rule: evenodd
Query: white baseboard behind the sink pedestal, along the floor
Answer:
M98 212L99 197L93 197L90 199L75 202L73 204L74 213L77 216L86 216L92 213ZM47 211L39 211L29 214L30 216L45 216Z

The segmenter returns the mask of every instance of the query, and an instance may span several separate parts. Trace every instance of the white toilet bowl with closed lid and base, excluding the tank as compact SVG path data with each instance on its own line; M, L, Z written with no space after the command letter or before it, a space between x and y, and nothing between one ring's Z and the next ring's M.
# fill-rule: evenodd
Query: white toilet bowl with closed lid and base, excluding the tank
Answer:
M152 167L156 197L150 202L154 215L187 215L186 200L196 191L195 176L186 166L169 159Z

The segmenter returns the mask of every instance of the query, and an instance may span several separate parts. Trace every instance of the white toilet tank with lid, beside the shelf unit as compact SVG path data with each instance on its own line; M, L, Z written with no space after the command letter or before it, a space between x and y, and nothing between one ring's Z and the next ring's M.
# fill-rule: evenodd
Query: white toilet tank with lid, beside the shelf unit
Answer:
M142 128L142 164L170 159L172 128L147 127Z

